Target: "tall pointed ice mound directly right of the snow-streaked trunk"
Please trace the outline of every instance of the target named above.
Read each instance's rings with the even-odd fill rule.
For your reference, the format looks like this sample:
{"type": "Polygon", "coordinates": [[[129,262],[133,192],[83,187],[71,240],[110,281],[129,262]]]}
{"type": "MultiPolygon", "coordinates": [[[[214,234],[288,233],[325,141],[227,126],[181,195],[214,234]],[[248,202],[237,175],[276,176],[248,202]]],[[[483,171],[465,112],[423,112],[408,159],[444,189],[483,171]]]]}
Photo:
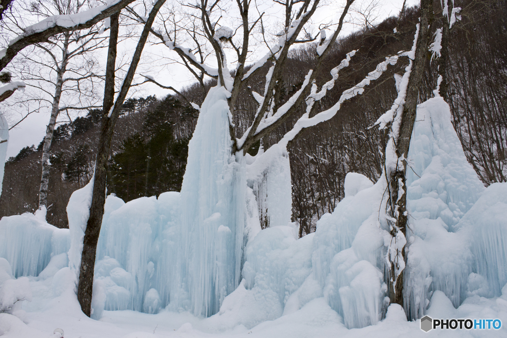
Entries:
{"type": "Polygon", "coordinates": [[[466,297],[471,242],[456,224],[485,188],[466,160],[441,97],[418,106],[408,158],[406,310],[409,318],[420,318],[432,290],[443,291],[455,307],[466,297]]]}

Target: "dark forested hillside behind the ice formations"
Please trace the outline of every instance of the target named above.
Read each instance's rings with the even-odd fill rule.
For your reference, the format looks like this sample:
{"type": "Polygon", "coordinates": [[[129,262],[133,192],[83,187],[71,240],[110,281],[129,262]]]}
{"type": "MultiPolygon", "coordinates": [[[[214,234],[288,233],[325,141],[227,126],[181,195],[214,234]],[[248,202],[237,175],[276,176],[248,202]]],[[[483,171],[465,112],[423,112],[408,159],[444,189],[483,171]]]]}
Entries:
{"type": "MultiPolygon", "coordinates": [[[[507,175],[507,17],[505,1],[461,1],[462,20],[451,31],[448,41],[448,102],[453,124],[465,155],[485,185],[505,182],[507,175]]],[[[315,106],[320,110],[335,104],[346,88],[361,81],[386,56],[410,49],[417,8],[406,9],[369,26],[335,44],[317,77],[319,87],[329,80],[329,72],[346,54],[357,52],[351,65],[340,72],[334,88],[315,106]]],[[[435,25],[441,18],[435,18],[435,25]]],[[[295,48],[289,53],[283,81],[279,82],[274,110],[297,91],[305,74],[317,62],[316,44],[295,48]]],[[[432,97],[437,86],[439,63],[428,52],[420,102],[432,97]]],[[[293,221],[300,236],[315,231],[315,223],[325,212],[334,210],[344,197],[347,172],[378,180],[382,172],[383,149],[387,135],[372,128],[397,95],[396,74],[406,64],[390,67],[381,79],[365,88],[363,95],[347,101],[329,122],[308,128],[289,143],[293,184],[293,221]]],[[[264,70],[250,79],[236,104],[236,137],[251,124],[257,101],[251,91],[262,92],[264,70]]],[[[123,105],[116,126],[113,154],[108,169],[107,192],[125,202],[141,196],[158,196],[179,191],[188,152],[188,142],[199,112],[189,102],[201,105],[213,82],[185,88],[182,96],[133,98],[123,105]]],[[[302,107],[304,108],[304,107],[302,107]]],[[[84,186],[93,174],[98,140],[97,112],[60,124],[55,130],[48,194],[49,223],[67,227],[65,208],[71,193],[84,186]]],[[[299,116],[296,114],[294,116],[299,116]]],[[[276,143],[295,121],[288,119],[269,138],[249,149],[276,143]]],[[[0,217],[34,212],[38,208],[40,184],[39,146],[23,148],[6,164],[0,217]]],[[[418,174],[417,172],[415,173],[418,174]]],[[[262,210],[261,215],[262,215],[262,210]]],[[[269,223],[263,222],[263,227],[269,223]]]]}

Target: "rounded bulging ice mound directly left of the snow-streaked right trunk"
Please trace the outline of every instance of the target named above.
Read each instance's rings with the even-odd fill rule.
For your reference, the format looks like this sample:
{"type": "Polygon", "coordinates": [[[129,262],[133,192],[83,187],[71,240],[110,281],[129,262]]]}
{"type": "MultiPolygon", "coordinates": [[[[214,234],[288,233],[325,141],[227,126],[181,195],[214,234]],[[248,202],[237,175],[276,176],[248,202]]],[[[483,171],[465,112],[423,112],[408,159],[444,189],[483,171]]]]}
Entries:
{"type": "Polygon", "coordinates": [[[381,207],[385,185],[385,177],[374,185],[363,175],[348,173],[345,198],[317,222],[313,276],[349,328],[377,323],[386,308],[385,231],[379,223],[385,210],[381,207]]]}

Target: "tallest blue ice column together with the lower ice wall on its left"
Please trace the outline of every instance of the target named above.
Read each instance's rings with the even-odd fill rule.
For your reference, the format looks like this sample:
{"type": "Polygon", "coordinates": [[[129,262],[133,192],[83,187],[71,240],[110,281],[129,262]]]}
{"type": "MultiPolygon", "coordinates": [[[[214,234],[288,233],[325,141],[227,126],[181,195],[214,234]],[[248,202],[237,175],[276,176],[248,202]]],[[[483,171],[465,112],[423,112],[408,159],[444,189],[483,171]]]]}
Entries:
{"type": "Polygon", "coordinates": [[[181,193],[107,198],[95,268],[106,310],[207,317],[238,286],[247,187],[245,163],[231,154],[227,94],[213,88],[201,107],[181,193]]]}

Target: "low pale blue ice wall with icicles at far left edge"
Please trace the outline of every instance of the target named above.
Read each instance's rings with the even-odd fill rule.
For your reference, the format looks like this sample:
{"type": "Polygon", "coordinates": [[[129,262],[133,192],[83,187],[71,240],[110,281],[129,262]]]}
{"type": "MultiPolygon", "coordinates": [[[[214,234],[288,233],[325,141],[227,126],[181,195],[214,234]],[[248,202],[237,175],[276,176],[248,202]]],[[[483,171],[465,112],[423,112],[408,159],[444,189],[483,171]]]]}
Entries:
{"type": "Polygon", "coordinates": [[[31,213],[0,220],[0,257],[9,261],[16,278],[39,276],[53,256],[69,247],[68,229],[58,229],[31,213]]]}

